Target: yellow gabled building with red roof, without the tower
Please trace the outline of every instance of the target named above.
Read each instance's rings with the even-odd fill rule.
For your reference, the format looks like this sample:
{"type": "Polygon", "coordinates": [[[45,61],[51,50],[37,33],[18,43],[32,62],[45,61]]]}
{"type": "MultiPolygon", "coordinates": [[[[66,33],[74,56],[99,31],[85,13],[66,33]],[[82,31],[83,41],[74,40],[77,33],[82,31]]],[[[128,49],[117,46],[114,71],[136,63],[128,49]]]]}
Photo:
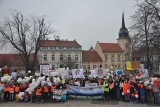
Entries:
{"type": "Polygon", "coordinates": [[[123,68],[123,50],[118,43],[97,42],[95,50],[103,60],[102,67],[109,69],[123,68]]]}

